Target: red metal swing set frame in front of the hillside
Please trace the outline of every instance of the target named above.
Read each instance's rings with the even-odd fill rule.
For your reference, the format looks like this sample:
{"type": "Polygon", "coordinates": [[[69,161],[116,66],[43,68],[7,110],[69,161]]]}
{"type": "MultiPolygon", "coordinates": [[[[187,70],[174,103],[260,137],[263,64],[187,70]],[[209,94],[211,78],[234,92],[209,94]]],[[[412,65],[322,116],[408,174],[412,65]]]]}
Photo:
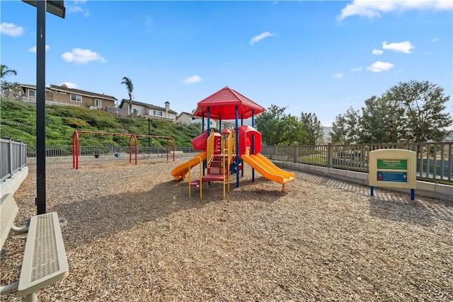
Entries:
{"type": "Polygon", "coordinates": [[[161,137],[156,135],[146,135],[146,134],[127,134],[127,133],[110,133],[110,132],[93,132],[93,131],[74,131],[72,134],[72,168],[79,170],[79,134],[98,134],[98,135],[113,135],[121,137],[129,137],[129,162],[132,163],[132,153],[134,153],[135,164],[137,165],[137,155],[138,155],[138,141],[137,137],[149,137],[155,139],[166,139],[167,140],[167,161],[168,161],[168,141],[173,141],[173,161],[175,161],[175,139],[173,137],[161,137]],[[132,149],[132,139],[134,140],[134,149],[132,149]]]}

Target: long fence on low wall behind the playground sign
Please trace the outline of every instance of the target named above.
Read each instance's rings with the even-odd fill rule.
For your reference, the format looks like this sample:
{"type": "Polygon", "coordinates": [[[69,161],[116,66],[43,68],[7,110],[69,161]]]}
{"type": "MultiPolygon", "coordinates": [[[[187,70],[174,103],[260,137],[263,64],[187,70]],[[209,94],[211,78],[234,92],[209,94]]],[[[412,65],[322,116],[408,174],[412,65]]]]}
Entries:
{"type": "Polygon", "coordinates": [[[453,143],[353,144],[319,146],[263,146],[266,156],[279,156],[287,161],[368,172],[369,151],[406,149],[417,154],[417,179],[433,182],[453,181],[453,143]]]}

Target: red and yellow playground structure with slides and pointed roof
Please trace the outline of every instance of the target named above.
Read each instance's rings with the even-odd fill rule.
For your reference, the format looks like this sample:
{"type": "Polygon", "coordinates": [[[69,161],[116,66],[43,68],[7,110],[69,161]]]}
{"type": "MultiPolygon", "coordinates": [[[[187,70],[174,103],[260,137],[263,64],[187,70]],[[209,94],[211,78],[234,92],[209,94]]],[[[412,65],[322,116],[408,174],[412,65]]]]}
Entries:
{"type": "Polygon", "coordinates": [[[252,181],[255,181],[255,170],[268,180],[273,180],[282,185],[285,192],[285,184],[294,180],[294,173],[281,170],[261,151],[261,134],[254,127],[254,115],[264,111],[264,108],[236,91],[225,87],[200,101],[194,115],[202,117],[202,129],[205,128],[205,114],[207,116],[207,130],[199,137],[193,139],[195,149],[202,152],[185,163],[181,163],[171,171],[174,180],[183,180],[189,174],[190,187],[200,186],[200,198],[202,198],[203,182],[223,182],[224,198],[226,188],[229,191],[230,175],[236,173],[236,187],[239,187],[239,173],[243,173],[243,163],[252,168],[252,181]],[[239,127],[239,116],[241,126],[239,127]],[[252,126],[243,125],[243,119],[252,118],[252,126]],[[224,120],[236,120],[234,131],[220,129],[220,133],[210,131],[210,118],[216,118],[222,124],[224,120]],[[190,169],[195,165],[203,164],[200,168],[200,180],[190,179],[190,169]],[[205,174],[205,167],[207,173],[205,174]]]}

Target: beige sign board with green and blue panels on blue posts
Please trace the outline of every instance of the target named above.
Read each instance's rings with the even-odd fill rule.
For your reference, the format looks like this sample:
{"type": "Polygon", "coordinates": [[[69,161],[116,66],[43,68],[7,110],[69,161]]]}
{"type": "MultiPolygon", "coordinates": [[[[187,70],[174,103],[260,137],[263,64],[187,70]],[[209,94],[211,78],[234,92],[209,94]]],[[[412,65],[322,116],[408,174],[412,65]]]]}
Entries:
{"type": "Polygon", "coordinates": [[[415,200],[417,165],[414,151],[401,149],[371,151],[368,167],[371,196],[374,196],[374,187],[398,187],[411,189],[411,200],[415,200]]]}

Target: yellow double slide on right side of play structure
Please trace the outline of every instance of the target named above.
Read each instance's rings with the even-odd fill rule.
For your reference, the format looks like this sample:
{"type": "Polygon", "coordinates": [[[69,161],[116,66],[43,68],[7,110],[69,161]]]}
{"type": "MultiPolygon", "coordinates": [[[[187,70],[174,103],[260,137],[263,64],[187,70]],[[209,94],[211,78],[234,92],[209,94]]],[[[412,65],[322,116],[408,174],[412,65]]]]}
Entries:
{"type": "Polygon", "coordinates": [[[263,175],[268,180],[273,180],[283,185],[282,192],[285,192],[285,183],[294,180],[296,177],[294,173],[287,172],[278,168],[268,158],[265,158],[262,154],[256,155],[243,155],[241,156],[244,162],[248,163],[253,169],[257,170],[258,173],[263,175]]]}

